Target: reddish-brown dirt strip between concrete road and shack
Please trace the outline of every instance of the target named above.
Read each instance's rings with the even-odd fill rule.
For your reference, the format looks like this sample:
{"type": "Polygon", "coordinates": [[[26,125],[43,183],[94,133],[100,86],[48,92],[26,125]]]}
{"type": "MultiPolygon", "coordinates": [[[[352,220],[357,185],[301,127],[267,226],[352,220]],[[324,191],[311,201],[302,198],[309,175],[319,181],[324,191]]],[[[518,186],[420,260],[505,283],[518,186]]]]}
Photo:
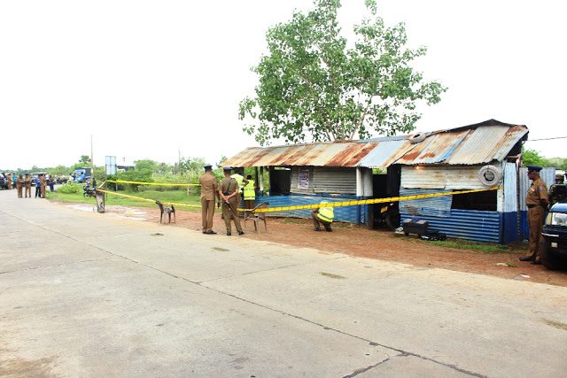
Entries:
{"type": "MultiPolygon", "coordinates": [[[[140,220],[159,223],[159,211],[148,208],[107,206],[107,212],[140,220]]],[[[176,222],[164,227],[183,227],[201,230],[201,213],[176,211],[176,222]]],[[[244,222],[243,222],[244,227],[244,222]]],[[[247,222],[245,235],[237,236],[234,225],[233,235],[254,240],[283,243],[298,247],[318,248],[325,251],[346,253],[363,258],[378,258],[415,266],[438,267],[459,272],[489,274],[501,278],[567,286],[567,272],[549,271],[543,266],[518,261],[525,254],[527,244],[510,247],[509,251],[486,253],[482,251],[454,249],[431,244],[416,235],[395,235],[389,230],[369,230],[352,224],[336,222],[332,232],[315,232],[312,220],[268,218],[268,232],[261,224],[260,232],[253,230],[253,223],[247,222]]],[[[218,235],[228,237],[221,213],[214,214],[214,230],[218,235]]]]}

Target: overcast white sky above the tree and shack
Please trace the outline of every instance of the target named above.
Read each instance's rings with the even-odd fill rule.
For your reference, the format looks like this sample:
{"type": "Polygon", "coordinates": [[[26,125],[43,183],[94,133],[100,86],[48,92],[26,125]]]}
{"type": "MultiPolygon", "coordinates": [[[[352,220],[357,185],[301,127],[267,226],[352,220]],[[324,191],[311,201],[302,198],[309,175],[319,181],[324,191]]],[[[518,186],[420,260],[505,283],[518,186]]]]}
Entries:
{"type": "MultiPolygon", "coordinates": [[[[365,13],[343,1],[345,35],[365,13]]],[[[526,125],[525,146],[567,157],[563,127],[567,23],[561,2],[378,1],[387,25],[406,24],[414,65],[448,90],[420,106],[416,131],[483,120],[526,125]]],[[[0,2],[0,169],[71,166],[82,155],[216,164],[257,146],[239,101],[266,32],[311,0],[0,2]]],[[[379,136],[379,135],[373,135],[379,136]]]]}

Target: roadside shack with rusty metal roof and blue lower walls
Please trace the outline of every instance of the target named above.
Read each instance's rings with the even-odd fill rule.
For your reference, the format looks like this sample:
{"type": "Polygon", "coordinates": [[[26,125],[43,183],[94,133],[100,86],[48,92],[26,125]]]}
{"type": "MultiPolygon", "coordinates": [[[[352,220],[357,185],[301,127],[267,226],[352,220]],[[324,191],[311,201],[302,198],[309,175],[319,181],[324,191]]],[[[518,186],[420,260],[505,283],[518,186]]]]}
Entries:
{"type": "MultiPolygon", "coordinates": [[[[257,201],[270,207],[352,199],[407,197],[468,189],[477,193],[404,200],[400,219],[427,220],[451,237],[509,243],[527,237],[524,194],[529,181],[521,167],[528,128],[498,120],[414,135],[363,141],[252,147],[229,158],[233,167],[255,167],[257,182],[268,175],[257,201]]],[[[545,168],[544,181],[555,174],[545,168]],[[550,174],[551,173],[551,174],[550,174]]],[[[335,208],[335,220],[375,226],[383,204],[335,208]]],[[[309,218],[311,210],[276,216],[309,218]]]]}

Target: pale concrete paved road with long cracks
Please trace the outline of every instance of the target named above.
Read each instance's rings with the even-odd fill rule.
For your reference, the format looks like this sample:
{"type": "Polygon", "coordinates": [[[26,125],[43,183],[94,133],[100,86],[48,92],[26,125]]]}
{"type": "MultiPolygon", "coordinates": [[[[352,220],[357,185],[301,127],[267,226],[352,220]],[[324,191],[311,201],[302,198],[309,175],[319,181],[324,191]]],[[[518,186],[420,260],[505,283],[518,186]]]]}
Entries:
{"type": "Polygon", "coordinates": [[[0,191],[0,240],[1,376],[567,374],[562,287],[202,235],[14,190],[0,191]]]}

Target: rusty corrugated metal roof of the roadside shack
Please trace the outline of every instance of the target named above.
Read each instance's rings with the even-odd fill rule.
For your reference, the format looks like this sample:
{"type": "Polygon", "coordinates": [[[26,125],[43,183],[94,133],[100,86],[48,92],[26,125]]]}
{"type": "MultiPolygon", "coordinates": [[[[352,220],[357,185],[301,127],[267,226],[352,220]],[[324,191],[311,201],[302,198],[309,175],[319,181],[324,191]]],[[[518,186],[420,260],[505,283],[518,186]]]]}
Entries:
{"type": "Polygon", "coordinates": [[[420,143],[408,136],[359,142],[292,144],[252,147],[229,158],[227,166],[345,166],[380,167],[392,164],[478,165],[501,161],[528,133],[525,126],[497,120],[439,130],[420,143]]]}

